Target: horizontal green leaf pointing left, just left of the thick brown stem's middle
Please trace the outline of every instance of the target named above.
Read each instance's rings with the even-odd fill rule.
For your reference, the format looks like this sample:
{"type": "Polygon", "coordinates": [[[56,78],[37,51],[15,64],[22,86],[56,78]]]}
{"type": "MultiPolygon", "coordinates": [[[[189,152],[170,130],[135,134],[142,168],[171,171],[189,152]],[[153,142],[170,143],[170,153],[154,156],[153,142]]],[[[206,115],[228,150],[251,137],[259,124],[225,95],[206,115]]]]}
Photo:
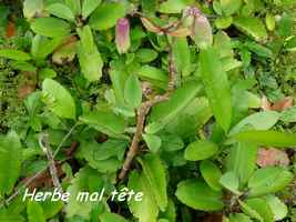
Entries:
{"type": "Polygon", "coordinates": [[[121,134],[125,128],[124,119],[111,111],[93,111],[83,114],[80,120],[108,134],[121,134]]]}

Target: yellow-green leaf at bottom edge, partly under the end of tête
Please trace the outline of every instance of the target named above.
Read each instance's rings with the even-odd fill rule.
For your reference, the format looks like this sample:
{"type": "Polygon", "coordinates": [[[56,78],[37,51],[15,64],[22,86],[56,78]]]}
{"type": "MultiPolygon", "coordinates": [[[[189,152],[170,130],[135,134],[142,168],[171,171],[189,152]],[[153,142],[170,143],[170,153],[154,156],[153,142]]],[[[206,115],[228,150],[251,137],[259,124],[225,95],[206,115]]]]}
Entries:
{"type": "Polygon", "coordinates": [[[137,218],[140,222],[156,222],[159,206],[147,179],[143,174],[140,175],[136,171],[133,171],[130,173],[127,186],[134,190],[134,192],[143,192],[142,201],[132,199],[127,202],[132,214],[137,218]]]}

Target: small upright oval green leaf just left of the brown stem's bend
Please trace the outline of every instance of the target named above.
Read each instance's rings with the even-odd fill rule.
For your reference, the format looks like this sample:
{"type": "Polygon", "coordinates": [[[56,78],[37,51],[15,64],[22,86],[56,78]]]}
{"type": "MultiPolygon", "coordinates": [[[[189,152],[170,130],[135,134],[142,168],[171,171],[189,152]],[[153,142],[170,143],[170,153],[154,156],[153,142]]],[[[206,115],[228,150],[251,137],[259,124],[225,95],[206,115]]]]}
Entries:
{"type": "Polygon", "coordinates": [[[142,88],[135,74],[130,74],[124,85],[124,99],[132,108],[139,108],[142,103],[142,88]]]}

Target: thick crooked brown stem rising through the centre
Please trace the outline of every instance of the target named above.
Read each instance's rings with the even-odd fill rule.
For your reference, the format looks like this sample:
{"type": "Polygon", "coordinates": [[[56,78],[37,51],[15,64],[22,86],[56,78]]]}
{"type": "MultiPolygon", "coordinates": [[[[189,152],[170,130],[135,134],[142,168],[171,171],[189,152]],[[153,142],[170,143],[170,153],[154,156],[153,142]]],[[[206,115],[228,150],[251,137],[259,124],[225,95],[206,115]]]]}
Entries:
{"type": "Polygon", "coordinates": [[[139,152],[139,142],[141,140],[144,124],[145,124],[145,119],[146,119],[146,115],[150,109],[160,102],[169,100],[172,91],[174,90],[175,79],[176,79],[176,69],[175,69],[172,46],[170,43],[169,43],[169,75],[170,75],[170,79],[169,79],[166,92],[161,95],[155,95],[153,99],[149,101],[142,102],[142,105],[137,110],[136,130],[135,130],[132,143],[131,143],[131,147],[126,153],[122,170],[119,174],[120,180],[123,180],[125,178],[126,173],[129,172],[131,168],[134,157],[139,152]]]}

